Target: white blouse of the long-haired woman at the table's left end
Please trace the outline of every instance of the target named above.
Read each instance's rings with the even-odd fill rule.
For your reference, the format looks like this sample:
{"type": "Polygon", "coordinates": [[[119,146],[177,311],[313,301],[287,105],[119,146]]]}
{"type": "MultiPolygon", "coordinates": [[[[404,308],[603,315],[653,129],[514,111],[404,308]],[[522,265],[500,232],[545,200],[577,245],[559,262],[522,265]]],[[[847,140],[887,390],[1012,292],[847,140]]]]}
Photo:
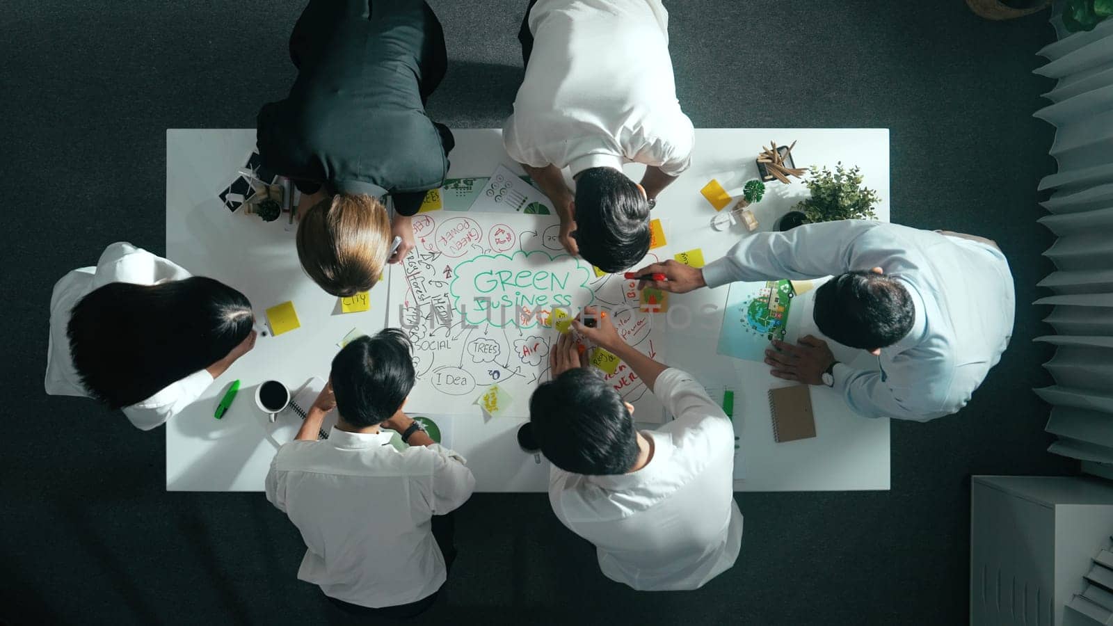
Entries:
{"type": "MultiPolygon", "coordinates": [[[[188,278],[177,264],[125,242],[115,243],[100,255],[96,267],[79,267],[55,283],[50,296],[50,339],[47,348],[45,387],[50,395],[89,395],[73,368],[67,329],[73,306],[90,292],[110,283],[154,285],[188,278]]],[[[140,430],[150,430],[181,412],[213,382],[205,370],[160,389],[155,395],[122,409],[140,430]]]]}

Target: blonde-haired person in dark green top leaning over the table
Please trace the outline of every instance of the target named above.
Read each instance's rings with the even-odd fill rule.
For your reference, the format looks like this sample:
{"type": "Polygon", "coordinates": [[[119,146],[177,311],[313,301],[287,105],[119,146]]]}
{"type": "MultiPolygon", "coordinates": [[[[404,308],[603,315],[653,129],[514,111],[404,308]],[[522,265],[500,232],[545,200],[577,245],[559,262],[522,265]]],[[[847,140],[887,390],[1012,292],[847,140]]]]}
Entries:
{"type": "Polygon", "coordinates": [[[452,133],[425,115],[447,68],[444,31],[423,0],[309,0],[289,55],[297,79],[259,110],[259,156],[302,193],[305,272],[351,295],[413,250],[410,218],[449,173],[452,133]]]}

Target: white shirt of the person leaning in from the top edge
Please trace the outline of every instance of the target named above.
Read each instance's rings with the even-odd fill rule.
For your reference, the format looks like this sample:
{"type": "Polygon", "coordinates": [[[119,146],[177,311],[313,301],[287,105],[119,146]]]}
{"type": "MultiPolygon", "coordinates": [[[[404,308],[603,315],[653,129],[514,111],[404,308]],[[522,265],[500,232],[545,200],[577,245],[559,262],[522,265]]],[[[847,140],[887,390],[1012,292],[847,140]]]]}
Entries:
{"type": "Polygon", "coordinates": [[[539,0],[533,52],[502,130],[510,156],[573,176],[629,162],[679,176],[696,134],[677,101],[668,22],[660,0],[539,0]]]}

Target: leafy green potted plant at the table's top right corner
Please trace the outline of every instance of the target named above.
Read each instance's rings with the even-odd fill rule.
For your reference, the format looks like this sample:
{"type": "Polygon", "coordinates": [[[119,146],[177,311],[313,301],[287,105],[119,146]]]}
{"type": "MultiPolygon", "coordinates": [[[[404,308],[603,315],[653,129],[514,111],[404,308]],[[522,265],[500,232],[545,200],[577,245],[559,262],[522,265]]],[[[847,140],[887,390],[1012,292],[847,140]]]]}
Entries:
{"type": "Polygon", "coordinates": [[[861,169],[850,169],[839,163],[835,172],[827,167],[812,167],[808,175],[811,196],[796,205],[777,222],[778,231],[788,231],[800,224],[833,222],[835,219],[876,219],[874,206],[881,202],[877,192],[861,186],[861,169]]]}

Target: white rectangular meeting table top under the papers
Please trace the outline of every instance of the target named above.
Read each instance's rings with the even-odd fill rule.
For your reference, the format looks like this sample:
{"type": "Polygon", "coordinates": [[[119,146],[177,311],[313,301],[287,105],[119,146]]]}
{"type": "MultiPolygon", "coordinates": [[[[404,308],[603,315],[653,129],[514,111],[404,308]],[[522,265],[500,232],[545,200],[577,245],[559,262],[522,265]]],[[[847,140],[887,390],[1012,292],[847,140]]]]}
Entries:
{"type": "MultiPolygon", "coordinates": [[[[485,177],[499,164],[521,172],[503,150],[500,130],[454,129],[453,134],[456,146],[450,155],[450,177],[485,177]]],[[[741,225],[713,231],[710,219],[716,212],[700,188],[716,178],[740,197],[743,183],[757,177],[758,151],[776,140],[778,145],[797,141],[792,150],[797,166],[834,167],[841,162],[861,167],[865,185],[881,197],[877,218],[888,221],[888,139],[887,129],[697,129],[691,168],[660,195],[653,214],[664,223],[670,251],[699,247],[708,263],[720,257],[749,233],[741,225]]],[[[277,222],[263,223],[243,215],[243,209],[232,213],[221,205],[218,194],[254,149],[254,129],[168,129],[166,143],[167,256],[195,275],[211,276],[244,292],[260,323],[267,307],[293,301],[302,324],[278,336],[259,336],[252,352],[166,424],[166,488],[262,491],[275,450],[293,438],[297,423],[279,420],[272,424],[255,404],[255,389],[274,379],[295,391],[309,376],[326,379],[337,342],[348,331],[357,327],[371,334],[384,326],[388,290],[385,284],[372,290],[370,311],[342,314],[337,300],[302,271],[294,228],[285,214],[277,222]],[[214,419],[217,402],[237,379],[240,391],[236,401],[223,419],[214,419]]],[[[626,167],[636,180],[642,169],[638,165],[626,167]]],[[[796,179],[789,185],[767,183],[767,189],[765,198],[752,207],[759,231],[774,229],[777,217],[808,194],[796,179]]],[[[706,387],[735,391],[733,419],[745,464],[745,479],[735,480],[735,490],[888,489],[888,420],[854,414],[825,387],[811,388],[817,436],[787,443],[774,440],[768,390],[788,383],[769,374],[765,363],[717,354],[727,291],[723,286],[673,296],[672,307],[684,304],[693,319],[687,327],[680,327],[684,326],[682,319],[670,320],[662,352],[669,365],[691,372],[706,387]]],[[[814,294],[805,293],[795,301],[787,340],[807,333],[819,335],[810,314],[814,294]]],[[[876,368],[876,360],[861,351],[840,345],[833,349],[840,361],[876,368]]],[[[452,447],[467,459],[477,491],[546,490],[548,462],[542,459],[538,463],[532,454],[522,452],[515,438],[526,415],[484,418],[479,407],[469,404],[457,414],[441,418],[452,421],[452,447]]]]}

